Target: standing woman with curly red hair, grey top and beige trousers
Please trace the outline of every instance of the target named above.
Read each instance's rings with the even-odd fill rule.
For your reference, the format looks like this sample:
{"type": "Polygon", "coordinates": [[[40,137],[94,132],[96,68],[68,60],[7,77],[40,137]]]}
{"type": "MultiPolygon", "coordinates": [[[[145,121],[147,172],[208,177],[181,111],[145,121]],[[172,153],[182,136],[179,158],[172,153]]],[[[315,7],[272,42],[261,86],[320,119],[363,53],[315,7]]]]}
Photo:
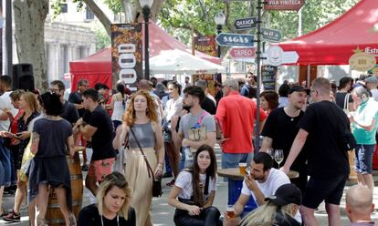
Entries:
{"type": "Polygon", "coordinates": [[[163,172],[164,147],[155,102],[147,91],[140,90],[131,97],[122,127],[118,129],[113,141],[114,148],[120,149],[125,139],[129,140],[130,148],[126,152],[125,176],[132,191],[131,206],[136,211],[136,223],[138,226],[152,225],[152,173],[147,161],[154,178],[160,178],[163,172]],[[146,159],[143,158],[138,142],[146,159]]]}

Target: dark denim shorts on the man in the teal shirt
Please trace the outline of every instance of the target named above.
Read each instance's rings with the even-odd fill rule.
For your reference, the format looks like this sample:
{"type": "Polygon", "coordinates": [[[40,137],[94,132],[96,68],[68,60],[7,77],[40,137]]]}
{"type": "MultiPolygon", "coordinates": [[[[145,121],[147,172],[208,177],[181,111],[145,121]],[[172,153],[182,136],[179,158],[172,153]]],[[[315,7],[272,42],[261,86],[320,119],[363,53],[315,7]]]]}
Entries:
{"type": "Polygon", "coordinates": [[[373,153],[375,144],[358,144],[355,149],[356,172],[361,174],[373,173],[373,153]]]}

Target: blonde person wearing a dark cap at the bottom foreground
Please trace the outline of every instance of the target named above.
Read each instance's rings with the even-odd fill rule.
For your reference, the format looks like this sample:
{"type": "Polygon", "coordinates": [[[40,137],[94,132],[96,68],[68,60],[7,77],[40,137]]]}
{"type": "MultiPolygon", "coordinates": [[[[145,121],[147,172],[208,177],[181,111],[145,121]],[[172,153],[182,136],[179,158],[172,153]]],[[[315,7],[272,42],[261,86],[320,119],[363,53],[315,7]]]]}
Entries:
{"type": "Polygon", "coordinates": [[[264,205],[247,214],[241,221],[241,226],[300,225],[294,219],[301,201],[301,193],[297,186],[294,184],[284,184],[276,190],[273,197],[266,198],[265,200],[267,202],[264,205]]]}

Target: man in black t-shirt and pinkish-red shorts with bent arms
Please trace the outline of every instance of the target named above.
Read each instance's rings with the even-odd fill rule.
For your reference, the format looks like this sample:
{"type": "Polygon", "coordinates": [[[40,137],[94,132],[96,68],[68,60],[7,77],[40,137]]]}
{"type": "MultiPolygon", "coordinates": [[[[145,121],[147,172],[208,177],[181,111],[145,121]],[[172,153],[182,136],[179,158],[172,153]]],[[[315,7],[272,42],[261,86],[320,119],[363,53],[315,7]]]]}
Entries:
{"type": "Polygon", "coordinates": [[[83,106],[90,111],[89,121],[84,126],[83,118],[79,118],[74,131],[80,132],[85,139],[91,139],[92,159],[88,175],[85,180],[86,187],[96,196],[97,182],[111,173],[115,159],[115,150],[112,146],[113,123],[108,112],[99,105],[99,93],[89,88],[83,92],[83,106]]]}

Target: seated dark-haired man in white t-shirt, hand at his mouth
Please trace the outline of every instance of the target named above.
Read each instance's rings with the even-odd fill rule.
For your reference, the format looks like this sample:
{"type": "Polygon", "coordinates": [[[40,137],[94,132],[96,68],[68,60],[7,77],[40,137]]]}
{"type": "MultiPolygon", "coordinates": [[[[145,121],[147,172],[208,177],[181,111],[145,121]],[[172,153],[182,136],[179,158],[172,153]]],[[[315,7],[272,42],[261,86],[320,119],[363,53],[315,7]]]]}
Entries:
{"type": "MultiPolygon", "coordinates": [[[[250,164],[250,173],[245,177],[239,199],[234,205],[236,217],[230,219],[225,212],[224,225],[239,224],[240,216],[250,196],[253,197],[257,205],[262,205],[265,203],[265,198],[274,196],[281,185],[290,183],[288,176],[283,171],[274,169],[272,166],[273,160],[268,153],[258,152],[255,154],[250,164]]],[[[301,221],[299,213],[295,219],[301,221]]]]}

